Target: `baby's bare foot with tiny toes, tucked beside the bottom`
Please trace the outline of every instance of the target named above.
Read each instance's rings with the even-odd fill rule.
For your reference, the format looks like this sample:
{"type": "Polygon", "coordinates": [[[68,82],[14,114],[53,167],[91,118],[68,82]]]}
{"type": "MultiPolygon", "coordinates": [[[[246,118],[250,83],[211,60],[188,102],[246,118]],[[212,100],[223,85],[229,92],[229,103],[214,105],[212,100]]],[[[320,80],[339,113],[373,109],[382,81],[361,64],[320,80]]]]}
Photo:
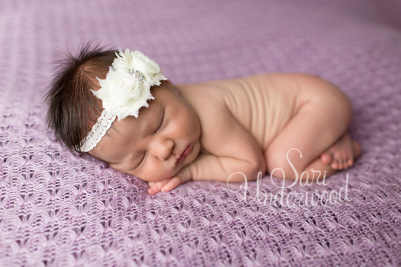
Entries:
{"type": "Polygon", "coordinates": [[[359,157],[361,151],[359,144],[351,140],[345,133],[334,145],[320,155],[323,164],[330,164],[335,170],[343,170],[354,164],[354,159],[359,157]]]}

